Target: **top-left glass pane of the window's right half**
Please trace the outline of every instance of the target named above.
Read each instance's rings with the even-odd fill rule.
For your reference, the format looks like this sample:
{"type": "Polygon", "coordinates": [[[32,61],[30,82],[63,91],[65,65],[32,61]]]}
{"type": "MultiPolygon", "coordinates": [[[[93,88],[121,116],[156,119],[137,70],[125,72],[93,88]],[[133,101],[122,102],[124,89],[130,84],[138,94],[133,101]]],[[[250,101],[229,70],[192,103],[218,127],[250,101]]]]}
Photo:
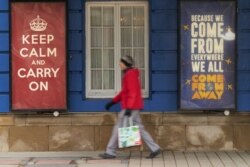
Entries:
{"type": "Polygon", "coordinates": [[[131,26],[132,25],[132,8],[131,7],[121,7],[121,26],[131,26]]]}

